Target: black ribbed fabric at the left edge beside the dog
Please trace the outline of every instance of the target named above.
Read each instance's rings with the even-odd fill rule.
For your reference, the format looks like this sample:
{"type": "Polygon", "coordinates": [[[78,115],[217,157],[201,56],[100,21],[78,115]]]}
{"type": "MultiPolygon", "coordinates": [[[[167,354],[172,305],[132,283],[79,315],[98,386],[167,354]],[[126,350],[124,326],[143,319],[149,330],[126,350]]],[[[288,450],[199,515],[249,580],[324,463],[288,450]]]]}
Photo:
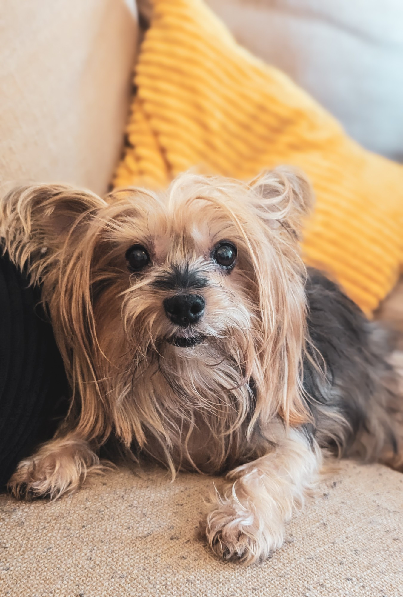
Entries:
{"type": "Polygon", "coordinates": [[[39,299],[40,289],[1,257],[0,490],[68,409],[63,362],[39,299]]]}

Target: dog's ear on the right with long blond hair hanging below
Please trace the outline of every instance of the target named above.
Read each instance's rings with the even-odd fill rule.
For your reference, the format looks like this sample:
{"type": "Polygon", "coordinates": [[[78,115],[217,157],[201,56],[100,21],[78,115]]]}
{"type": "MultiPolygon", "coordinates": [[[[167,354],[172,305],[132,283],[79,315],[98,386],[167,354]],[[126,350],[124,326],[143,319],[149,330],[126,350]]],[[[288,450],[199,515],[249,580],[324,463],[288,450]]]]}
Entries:
{"type": "Polygon", "coordinates": [[[302,398],[306,301],[297,242],[312,193],[302,174],[290,168],[263,172],[249,188],[250,206],[262,223],[255,233],[253,219],[245,233],[253,255],[260,319],[256,338],[262,374],[253,374],[258,380],[254,420],[259,413],[271,412],[299,426],[310,415],[302,398]]]}

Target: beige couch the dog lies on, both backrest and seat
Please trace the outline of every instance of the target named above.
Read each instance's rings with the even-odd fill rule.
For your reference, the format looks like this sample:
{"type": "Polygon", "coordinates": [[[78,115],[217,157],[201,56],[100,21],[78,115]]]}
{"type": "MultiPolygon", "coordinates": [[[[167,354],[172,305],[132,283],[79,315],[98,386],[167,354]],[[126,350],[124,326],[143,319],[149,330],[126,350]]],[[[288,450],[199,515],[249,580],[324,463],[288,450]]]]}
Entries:
{"type": "MultiPolygon", "coordinates": [[[[123,0],[8,2],[0,21],[1,183],[106,191],[122,147],[136,12],[123,0]]],[[[213,479],[124,469],[75,496],[0,496],[0,595],[403,595],[403,475],[343,462],[262,565],[221,562],[199,540],[213,479]]]]}

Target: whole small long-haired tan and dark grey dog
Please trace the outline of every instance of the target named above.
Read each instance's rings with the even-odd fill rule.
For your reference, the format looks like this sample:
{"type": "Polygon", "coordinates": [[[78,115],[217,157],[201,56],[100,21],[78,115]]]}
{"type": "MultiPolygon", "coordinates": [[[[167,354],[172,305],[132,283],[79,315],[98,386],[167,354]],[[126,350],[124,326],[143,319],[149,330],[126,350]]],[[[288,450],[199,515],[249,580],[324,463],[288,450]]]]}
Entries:
{"type": "Polygon", "coordinates": [[[386,334],[303,266],[311,200],[285,168],[249,184],[187,173],[106,201],[60,185],[8,193],[3,247],[42,285],[72,389],[14,496],[76,490],[115,436],[173,475],[226,473],[205,533],[249,564],[281,546],[323,450],[401,467],[386,334]]]}

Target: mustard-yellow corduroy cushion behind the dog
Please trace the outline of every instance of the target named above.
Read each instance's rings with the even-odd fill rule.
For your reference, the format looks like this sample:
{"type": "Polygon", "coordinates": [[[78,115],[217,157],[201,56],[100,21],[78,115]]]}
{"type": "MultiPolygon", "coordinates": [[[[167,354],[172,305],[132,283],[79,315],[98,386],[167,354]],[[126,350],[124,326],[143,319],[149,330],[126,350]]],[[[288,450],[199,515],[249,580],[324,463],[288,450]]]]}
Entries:
{"type": "Polygon", "coordinates": [[[236,44],[201,0],[154,0],[115,187],[162,187],[194,165],[238,179],[293,164],[316,193],[307,264],[371,312],[403,261],[403,168],[352,141],[279,70],[236,44]]]}

